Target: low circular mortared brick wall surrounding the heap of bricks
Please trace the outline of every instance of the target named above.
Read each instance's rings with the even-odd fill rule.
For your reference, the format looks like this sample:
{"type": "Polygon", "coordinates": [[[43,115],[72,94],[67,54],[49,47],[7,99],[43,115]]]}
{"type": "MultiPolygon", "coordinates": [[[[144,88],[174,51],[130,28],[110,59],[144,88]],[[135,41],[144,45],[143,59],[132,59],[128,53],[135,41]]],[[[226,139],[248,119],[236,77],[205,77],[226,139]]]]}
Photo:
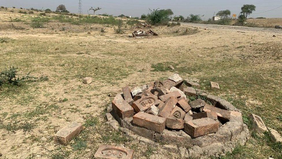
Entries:
{"type": "MultiPolygon", "coordinates": [[[[121,130],[126,135],[139,140],[139,142],[151,144],[155,147],[162,148],[173,153],[179,153],[182,158],[207,158],[208,156],[224,155],[226,152],[231,152],[236,145],[244,145],[248,139],[249,132],[246,125],[243,123],[240,111],[226,100],[210,95],[203,90],[188,87],[184,83],[182,80],[176,85],[176,87],[179,88],[186,96],[193,98],[194,101],[197,99],[205,101],[207,105],[211,106],[212,112],[217,111],[218,119],[214,119],[214,121],[219,123],[219,127],[215,133],[193,137],[193,135],[189,135],[187,133],[187,130],[170,129],[168,127],[166,127],[166,129],[162,132],[156,132],[134,124],[131,116],[120,117],[120,114],[112,109],[112,104],[107,108],[107,123],[114,129],[121,130]],[[222,109],[224,110],[223,112],[228,112],[229,115],[227,115],[227,117],[225,117],[226,115],[224,113],[220,112],[222,109]]],[[[148,85],[136,87],[135,89],[140,88],[143,94],[146,90],[151,89],[154,86],[155,85],[153,83],[150,83],[148,85]]],[[[135,89],[133,89],[133,91],[131,90],[131,94],[133,96],[135,95],[135,89]]],[[[118,100],[120,96],[124,97],[123,92],[119,93],[113,102],[118,100]]],[[[187,100],[189,99],[187,98],[187,100]]],[[[191,101],[188,101],[188,103],[191,104],[191,101]]],[[[197,111],[193,108],[191,110],[197,111]]],[[[209,112],[209,110],[204,107],[204,110],[199,109],[198,112],[193,113],[198,114],[200,112],[209,112]]],[[[136,110],[134,114],[136,114],[136,110]]],[[[189,121],[185,120],[184,122],[186,124],[189,121]]]]}

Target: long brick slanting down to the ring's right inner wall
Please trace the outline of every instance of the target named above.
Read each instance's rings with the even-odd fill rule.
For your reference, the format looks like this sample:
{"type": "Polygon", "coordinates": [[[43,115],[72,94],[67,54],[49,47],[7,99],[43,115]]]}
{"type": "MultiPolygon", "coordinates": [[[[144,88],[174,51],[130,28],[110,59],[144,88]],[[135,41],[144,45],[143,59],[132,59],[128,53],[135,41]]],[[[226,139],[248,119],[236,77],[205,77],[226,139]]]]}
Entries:
{"type": "Polygon", "coordinates": [[[231,118],[231,112],[230,111],[220,109],[220,108],[214,107],[214,106],[209,105],[209,104],[205,104],[203,111],[204,112],[216,112],[217,117],[220,120],[229,121],[230,118],[231,118]]]}

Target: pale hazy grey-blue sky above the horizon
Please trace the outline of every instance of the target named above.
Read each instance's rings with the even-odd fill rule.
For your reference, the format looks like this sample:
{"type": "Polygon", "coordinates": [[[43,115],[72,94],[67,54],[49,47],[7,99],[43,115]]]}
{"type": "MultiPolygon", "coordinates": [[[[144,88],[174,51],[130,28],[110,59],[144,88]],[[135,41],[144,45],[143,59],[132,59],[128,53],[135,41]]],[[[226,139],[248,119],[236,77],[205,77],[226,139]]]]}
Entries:
{"type": "MultiPolygon", "coordinates": [[[[64,4],[70,12],[78,12],[78,0],[0,0],[0,6],[16,8],[37,8],[55,10],[59,4],[64,4]]],[[[282,0],[82,0],[82,10],[87,14],[88,9],[100,7],[101,10],[96,14],[112,14],[118,16],[125,14],[133,17],[140,17],[147,14],[150,9],[167,9],[170,8],[174,15],[183,15],[187,17],[189,14],[204,15],[206,20],[214,15],[214,12],[220,10],[231,10],[231,14],[239,14],[243,4],[254,4],[257,6],[256,11],[250,17],[282,17],[282,7],[265,12],[279,6],[282,6],[282,0]],[[264,12],[264,13],[260,13],[264,12]]],[[[89,13],[92,13],[89,11],[89,13]]]]}

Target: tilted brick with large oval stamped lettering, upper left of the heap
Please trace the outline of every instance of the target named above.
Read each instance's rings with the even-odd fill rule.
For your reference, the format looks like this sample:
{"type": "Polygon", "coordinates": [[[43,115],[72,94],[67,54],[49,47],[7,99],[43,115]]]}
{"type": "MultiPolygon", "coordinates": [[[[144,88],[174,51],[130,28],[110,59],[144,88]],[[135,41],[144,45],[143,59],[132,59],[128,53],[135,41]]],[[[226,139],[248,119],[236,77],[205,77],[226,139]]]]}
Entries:
{"type": "Polygon", "coordinates": [[[159,100],[153,94],[149,94],[148,96],[142,96],[142,98],[133,102],[132,107],[134,108],[135,112],[144,112],[149,109],[152,105],[158,105],[159,100]]]}

